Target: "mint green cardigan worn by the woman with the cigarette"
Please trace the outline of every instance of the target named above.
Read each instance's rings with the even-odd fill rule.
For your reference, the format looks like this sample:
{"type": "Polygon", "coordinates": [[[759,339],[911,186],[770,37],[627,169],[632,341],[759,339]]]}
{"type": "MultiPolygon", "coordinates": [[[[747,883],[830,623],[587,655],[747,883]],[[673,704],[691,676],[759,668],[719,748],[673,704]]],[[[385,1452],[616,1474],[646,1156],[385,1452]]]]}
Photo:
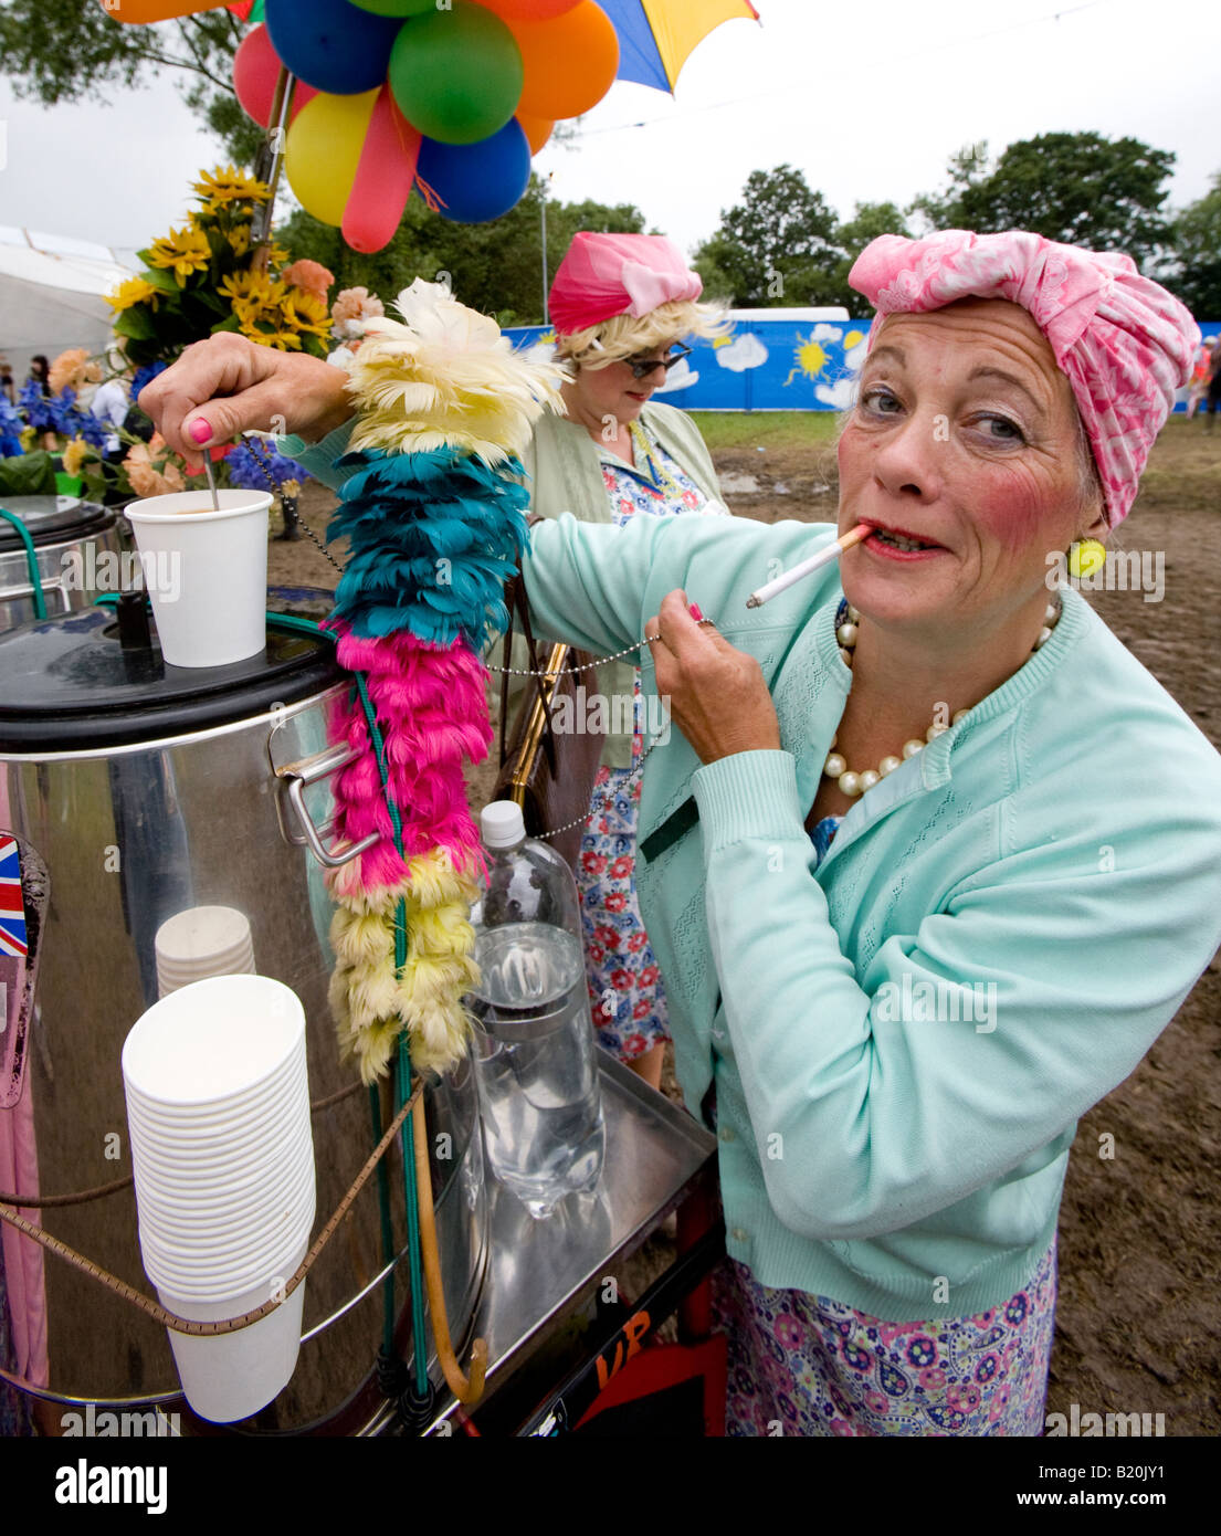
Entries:
{"type": "Polygon", "coordinates": [[[653,750],[636,862],[693,1115],[716,1084],[730,1253],[891,1321],[961,1316],[1031,1278],[1078,1117],[1221,942],[1221,757],[1067,588],[1047,644],[857,800],[816,871],[851,687],[837,571],[745,601],[829,531],[564,516],[525,582],[541,631],[602,654],[683,587],[773,693],[779,751],[653,750]]]}

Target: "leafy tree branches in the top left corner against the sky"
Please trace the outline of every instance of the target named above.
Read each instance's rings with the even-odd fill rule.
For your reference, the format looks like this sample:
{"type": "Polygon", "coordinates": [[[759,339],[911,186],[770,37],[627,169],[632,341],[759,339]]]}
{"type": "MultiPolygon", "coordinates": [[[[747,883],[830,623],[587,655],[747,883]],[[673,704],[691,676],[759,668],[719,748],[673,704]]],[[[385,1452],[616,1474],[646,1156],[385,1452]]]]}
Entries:
{"type": "Polygon", "coordinates": [[[178,71],[186,104],[221,138],[238,164],[250,164],[263,140],[233,94],[233,54],[243,23],[229,11],[204,11],[155,26],[124,26],[97,0],[5,0],[0,6],[0,72],[20,97],[111,101],[163,71],[178,71]]]}

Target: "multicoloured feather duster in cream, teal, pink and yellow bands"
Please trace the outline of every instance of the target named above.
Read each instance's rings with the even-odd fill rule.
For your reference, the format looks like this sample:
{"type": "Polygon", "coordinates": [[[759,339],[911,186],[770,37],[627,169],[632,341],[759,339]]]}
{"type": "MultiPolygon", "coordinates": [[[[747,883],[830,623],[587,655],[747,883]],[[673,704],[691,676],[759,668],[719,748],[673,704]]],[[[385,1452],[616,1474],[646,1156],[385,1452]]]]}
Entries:
{"type": "Polygon", "coordinates": [[[462,768],[491,745],[479,653],[528,541],[521,453],[539,413],[562,409],[558,370],[445,289],[412,284],[399,313],[370,321],[349,364],[362,415],[329,528],[352,554],[327,627],[358,679],[330,720],[353,750],[332,780],[336,845],[378,837],[327,876],[330,1005],[366,1083],[404,1031],[418,1071],[465,1051],[485,865],[462,768]]]}

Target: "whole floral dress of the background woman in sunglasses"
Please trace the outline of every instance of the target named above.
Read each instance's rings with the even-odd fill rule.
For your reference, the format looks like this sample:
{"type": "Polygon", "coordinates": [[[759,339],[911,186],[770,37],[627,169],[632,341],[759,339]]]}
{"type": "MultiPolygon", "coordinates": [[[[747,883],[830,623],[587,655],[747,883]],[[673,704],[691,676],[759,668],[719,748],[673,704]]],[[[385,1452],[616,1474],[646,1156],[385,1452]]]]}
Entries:
{"type": "MultiPolygon", "coordinates": [[[[720,502],[708,501],[699,485],[639,422],[633,427],[633,441],[636,468],[611,453],[602,453],[602,481],[616,527],[622,527],[631,518],[728,515],[720,502]]],[[[577,860],[593,1021],[597,1043],[620,1061],[631,1061],[670,1038],[657,958],[636,902],[639,763],[648,746],[644,739],[639,673],[634,697],[633,766],[597,770],[593,806],[577,860]]]]}

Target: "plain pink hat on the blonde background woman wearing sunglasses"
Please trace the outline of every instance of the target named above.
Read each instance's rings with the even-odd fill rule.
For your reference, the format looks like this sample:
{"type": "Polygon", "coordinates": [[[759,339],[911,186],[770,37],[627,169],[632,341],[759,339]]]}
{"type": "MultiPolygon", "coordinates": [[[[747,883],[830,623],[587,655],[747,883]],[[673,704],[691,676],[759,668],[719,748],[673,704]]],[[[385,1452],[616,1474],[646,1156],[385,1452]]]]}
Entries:
{"type": "Polygon", "coordinates": [[[548,307],[556,332],[601,326],[613,315],[648,315],[671,300],[703,292],[679,247],[665,235],[573,237],[556,270],[548,307]]]}

